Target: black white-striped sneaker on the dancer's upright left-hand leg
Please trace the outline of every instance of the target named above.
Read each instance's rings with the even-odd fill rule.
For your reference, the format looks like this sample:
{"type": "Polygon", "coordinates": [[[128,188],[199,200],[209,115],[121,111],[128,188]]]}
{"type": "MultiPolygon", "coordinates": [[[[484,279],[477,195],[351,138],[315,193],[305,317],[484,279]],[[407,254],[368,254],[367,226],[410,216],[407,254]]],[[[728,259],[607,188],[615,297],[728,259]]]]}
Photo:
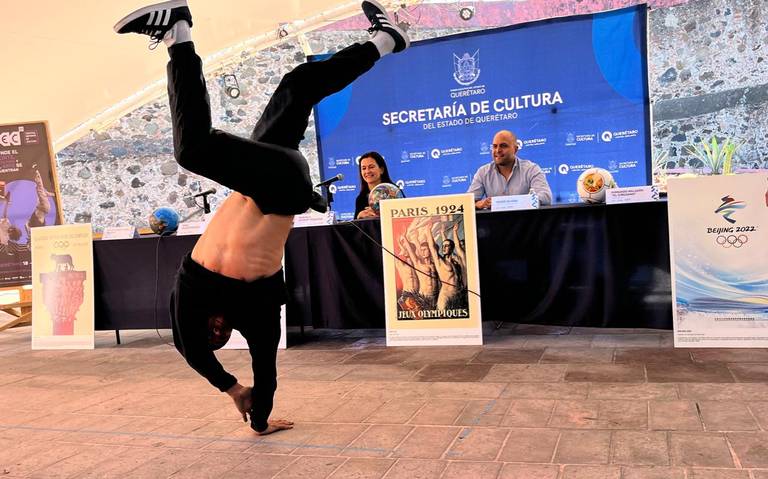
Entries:
{"type": "Polygon", "coordinates": [[[179,20],[186,20],[192,26],[187,0],[170,0],[140,8],[117,22],[114,28],[117,33],[149,35],[157,45],[179,20]]]}

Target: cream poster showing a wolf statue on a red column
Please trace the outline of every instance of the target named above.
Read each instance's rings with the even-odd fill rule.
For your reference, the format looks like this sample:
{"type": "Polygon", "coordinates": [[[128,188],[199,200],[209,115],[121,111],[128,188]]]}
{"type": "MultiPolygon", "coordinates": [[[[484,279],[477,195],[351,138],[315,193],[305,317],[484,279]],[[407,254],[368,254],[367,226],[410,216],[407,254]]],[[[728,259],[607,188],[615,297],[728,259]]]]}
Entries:
{"type": "Polygon", "coordinates": [[[89,223],[32,229],[32,349],[93,349],[89,223]]]}

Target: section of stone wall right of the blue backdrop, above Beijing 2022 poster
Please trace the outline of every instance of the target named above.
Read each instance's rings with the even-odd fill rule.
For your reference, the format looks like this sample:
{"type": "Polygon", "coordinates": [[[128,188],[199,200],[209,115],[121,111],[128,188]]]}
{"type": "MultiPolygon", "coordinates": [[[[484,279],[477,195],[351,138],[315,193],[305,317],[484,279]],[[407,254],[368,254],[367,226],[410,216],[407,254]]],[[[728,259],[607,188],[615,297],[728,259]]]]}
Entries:
{"type": "Polygon", "coordinates": [[[649,76],[657,151],[697,166],[686,145],[746,144],[740,168],[768,168],[768,3],[698,0],[651,12],[649,76]]]}

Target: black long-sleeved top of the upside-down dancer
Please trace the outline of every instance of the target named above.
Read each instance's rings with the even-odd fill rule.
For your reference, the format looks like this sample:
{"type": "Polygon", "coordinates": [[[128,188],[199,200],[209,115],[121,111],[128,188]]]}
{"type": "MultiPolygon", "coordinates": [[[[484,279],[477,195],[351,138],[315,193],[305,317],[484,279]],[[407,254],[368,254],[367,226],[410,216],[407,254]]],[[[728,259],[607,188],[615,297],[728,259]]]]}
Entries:
{"type": "Polygon", "coordinates": [[[219,391],[237,379],[224,370],[208,346],[208,318],[221,315],[248,342],[253,368],[251,424],[267,427],[277,389],[277,345],[280,306],[286,293],[282,270],[269,278],[246,282],[205,269],[187,255],[171,293],[173,343],[187,363],[219,391]]]}

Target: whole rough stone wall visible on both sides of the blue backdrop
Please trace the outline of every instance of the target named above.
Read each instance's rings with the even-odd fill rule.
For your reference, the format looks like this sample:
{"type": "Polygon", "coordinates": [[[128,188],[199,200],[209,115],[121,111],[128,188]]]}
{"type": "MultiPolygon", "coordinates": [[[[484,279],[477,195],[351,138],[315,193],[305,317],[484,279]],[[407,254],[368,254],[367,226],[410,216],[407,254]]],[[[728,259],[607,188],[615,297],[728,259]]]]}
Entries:
{"type": "MultiPolygon", "coordinates": [[[[494,8],[506,7],[496,3],[494,8]]],[[[411,33],[414,39],[425,39],[478,28],[484,26],[455,21],[442,28],[415,25],[411,33]]],[[[320,53],[337,51],[364,36],[357,30],[323,30],[307,38],[312,51],[320,53]]],[[[715,134],[746,141],[737,167],[768,168],[767,45],[764,0],[694,0],[651,10],[653,145],[657,152],[669,152],[670,166],[697,166],[685,146],[715,134]]],[[[288,40],[209,75],[214,126],[248,136],[282,75],[305,61],[299,43],[288,40]],[[224,73],[237,76],[239,98],[224,92],[224,73]]],[[[317,179],[312,121],[300,149],[317,179]]],[[[97,231],[107,225],[144,227],[156,207],[171,206],[184,217],[198,211],[190,197],[201,189],[217,187],[214,207],[229,193],[179,168],[172,151],[165,99],[144,105],[109,129],[60,151],[65,221],[91,222],[97,231]]]]}

